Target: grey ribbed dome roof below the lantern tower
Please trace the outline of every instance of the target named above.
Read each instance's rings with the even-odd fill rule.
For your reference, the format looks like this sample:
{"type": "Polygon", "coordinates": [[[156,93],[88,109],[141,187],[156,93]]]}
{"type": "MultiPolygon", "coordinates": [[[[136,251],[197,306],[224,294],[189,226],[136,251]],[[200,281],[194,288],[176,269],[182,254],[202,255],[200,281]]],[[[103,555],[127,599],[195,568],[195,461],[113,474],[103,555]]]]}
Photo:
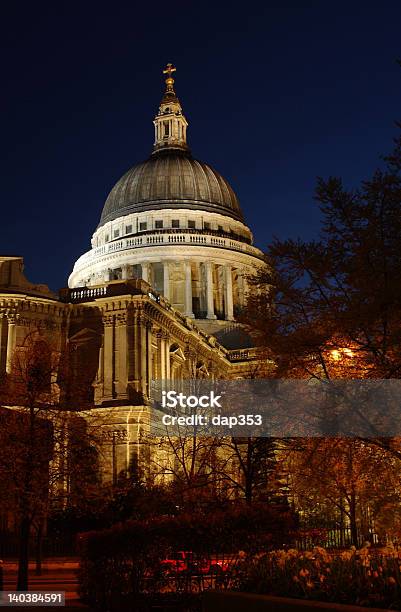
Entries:
{"type": "Polygon", "coordinates": [[[217,212],[243,221],[238,198],[228,182],[187,151],[153,154],[115,184],[98,227],[134,212],[187,208],[217,212]]]}

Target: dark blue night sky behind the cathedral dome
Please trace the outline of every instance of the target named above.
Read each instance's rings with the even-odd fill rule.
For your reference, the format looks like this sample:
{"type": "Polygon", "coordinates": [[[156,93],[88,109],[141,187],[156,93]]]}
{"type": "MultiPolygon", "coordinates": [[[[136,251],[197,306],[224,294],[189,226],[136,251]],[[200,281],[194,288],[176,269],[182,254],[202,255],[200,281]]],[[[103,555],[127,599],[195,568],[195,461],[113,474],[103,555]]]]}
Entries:
{"type": "Polygon", "coordinates": [[[195,157],[262,248],[313,237],[316,176],[367,178],[401,118],[401,3],[9,2],[1,9],[1,254],[66,285],[113,184],[153,142],[166,62],[195,157]]]}

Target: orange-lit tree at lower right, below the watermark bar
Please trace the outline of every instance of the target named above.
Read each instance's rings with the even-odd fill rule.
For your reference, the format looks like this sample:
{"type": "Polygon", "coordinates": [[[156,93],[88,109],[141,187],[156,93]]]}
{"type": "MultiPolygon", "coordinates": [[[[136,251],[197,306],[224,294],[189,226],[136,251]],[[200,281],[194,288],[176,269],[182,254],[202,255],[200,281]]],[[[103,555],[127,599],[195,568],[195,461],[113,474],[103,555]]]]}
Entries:
{"type": "Polygon", "coordinates": [[[389,512],[400,508],[400,461],[364,441],[304,440],[302,449],[287,449],[286,465],[289,493],[305,522],[349,525],[355,546],[361,533],[369,539],[373,528],[388,531],[389,512]]]}

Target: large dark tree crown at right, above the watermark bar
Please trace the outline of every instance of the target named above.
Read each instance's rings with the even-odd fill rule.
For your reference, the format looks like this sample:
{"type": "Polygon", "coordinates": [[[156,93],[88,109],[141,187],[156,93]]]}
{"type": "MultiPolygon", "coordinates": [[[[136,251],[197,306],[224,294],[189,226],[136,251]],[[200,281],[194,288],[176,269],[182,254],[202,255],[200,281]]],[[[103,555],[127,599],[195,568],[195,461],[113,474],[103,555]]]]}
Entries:
{"type": "Polygon", "coordinates": [[[275,240],[244,319],[277,376],[401,376],[401,137],[360,189],[318,181],[319,240],[275,240]]]}

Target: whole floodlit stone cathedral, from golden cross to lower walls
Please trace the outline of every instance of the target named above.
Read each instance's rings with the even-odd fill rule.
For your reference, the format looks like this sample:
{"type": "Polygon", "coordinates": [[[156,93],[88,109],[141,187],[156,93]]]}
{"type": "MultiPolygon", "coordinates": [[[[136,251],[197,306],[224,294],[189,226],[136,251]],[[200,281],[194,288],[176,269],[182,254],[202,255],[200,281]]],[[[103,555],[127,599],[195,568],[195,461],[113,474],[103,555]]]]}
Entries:
{"type": "Polygon", "coordinates": [[[55,362],[68,359],[70,389],[60,373],[53,382],[71,413],[100,423],[106,481],[133,460],[150,464],[153,380],[241,378],[264,363],[241,348],[250,341],[235,322],[263,254],[231,186],[190,153],[174,70],[153,153],[110,192],[69,288],[54,295],[26,280],[22,258],[0,257],[0,376],[29,336],[45,339],[55,362]]]}

